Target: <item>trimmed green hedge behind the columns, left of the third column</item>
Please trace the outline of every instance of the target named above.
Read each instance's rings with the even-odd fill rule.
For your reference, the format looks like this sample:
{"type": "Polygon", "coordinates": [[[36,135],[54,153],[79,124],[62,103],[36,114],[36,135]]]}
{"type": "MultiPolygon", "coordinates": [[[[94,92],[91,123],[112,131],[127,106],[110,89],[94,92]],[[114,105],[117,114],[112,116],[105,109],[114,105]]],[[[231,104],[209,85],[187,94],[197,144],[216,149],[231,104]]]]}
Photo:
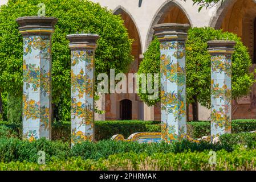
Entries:
{"type": "MultiPolygon", "coordinates": [[[[97,141],[110,139],[115,134],[123,134],[125,138],[137,132],[157,132],[160,131],[159,121],[95,121],[95,139],[97,141]]],[[[10,125],[8,122],[0,122],[0,136],[2,135],[22,135],[21,125],[10,125]],[[1,133],[3,127],[6,133],[1,133]],[[7,130],[9,127],[10,130],[7,130]]],[[[54,122],[52,123],[52,140],[70,141],[71,124],[70,122],[54,122]]]]}

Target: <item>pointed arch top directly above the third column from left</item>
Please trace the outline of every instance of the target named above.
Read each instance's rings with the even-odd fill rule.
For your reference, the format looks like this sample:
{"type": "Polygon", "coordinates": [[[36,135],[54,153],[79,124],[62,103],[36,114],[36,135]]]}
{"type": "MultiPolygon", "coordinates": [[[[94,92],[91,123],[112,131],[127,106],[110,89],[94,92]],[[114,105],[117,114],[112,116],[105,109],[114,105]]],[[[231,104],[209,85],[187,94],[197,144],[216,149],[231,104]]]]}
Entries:
{"type": "Polygon", "coordinates": [[[159,23],[188,23],[192,25],[191,19],[182,5],[176,1],[165,1],[157,10],[153,17],[151,26],[149,27],[147,34],[147,42],[145,44],[145,50],[147,50],[149,44],[152,42],[154,30],[153,26],[159,23]],[[172,16],[173,14],[176,16],[172,16]]]}

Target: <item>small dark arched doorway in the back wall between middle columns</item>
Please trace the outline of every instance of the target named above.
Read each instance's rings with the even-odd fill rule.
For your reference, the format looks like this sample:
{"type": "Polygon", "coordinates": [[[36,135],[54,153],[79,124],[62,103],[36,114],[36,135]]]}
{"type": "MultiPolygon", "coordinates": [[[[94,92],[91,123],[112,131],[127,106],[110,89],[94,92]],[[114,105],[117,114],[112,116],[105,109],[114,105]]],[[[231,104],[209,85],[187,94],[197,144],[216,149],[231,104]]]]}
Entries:
{"type": "Polygon", "coordinates": [[[120,118],[121,120],[132,119],[132,101],[128,99],[120,101],[120,118]]]}

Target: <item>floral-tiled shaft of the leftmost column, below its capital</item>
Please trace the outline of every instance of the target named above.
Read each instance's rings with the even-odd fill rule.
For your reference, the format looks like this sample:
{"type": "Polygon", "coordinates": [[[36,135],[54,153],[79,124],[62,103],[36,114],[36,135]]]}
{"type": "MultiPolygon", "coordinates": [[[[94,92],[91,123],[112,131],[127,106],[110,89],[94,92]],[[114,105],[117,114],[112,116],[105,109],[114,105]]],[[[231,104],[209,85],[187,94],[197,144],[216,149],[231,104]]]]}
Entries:
{"type": "Polygon", "coordinates": [[[50,138],[50,36],[23,38],[23,137],[50,138]]]}

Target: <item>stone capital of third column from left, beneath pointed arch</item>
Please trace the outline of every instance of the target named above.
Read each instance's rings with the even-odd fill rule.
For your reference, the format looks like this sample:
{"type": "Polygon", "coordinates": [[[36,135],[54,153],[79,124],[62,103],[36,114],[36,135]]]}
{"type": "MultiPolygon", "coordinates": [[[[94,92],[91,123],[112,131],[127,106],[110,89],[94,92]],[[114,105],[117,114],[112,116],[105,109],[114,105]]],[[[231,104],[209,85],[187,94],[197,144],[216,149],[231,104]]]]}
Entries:
{"type": "Polygon", "coordinates": [[[155,30],[155,35],[160,40],[160,42],[165,42],[166,40],[186,40],[188,34],[189,24],[180,23],[162,23],[153,26],[155,30]]]}

